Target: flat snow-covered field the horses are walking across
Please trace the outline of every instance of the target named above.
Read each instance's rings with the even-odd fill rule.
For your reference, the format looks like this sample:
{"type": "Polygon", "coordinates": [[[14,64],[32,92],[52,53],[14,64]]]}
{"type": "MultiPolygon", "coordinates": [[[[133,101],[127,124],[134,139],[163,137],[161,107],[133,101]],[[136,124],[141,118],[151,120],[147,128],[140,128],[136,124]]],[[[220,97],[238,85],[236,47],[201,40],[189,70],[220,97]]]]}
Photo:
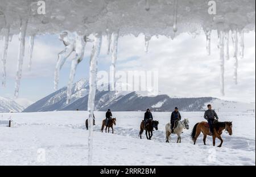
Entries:
{"type": "MultiPolygon", "coordinates": [[[[176,144],[176,135],[172,135],[170,144],[165,143],[164,125],[170,120],[167,112],[153,112],[160,122],[159,130],[154,131],[151,141],[144,133],[140,140],[143,114],[113,112],[117,125],[114,134],[106,134],[100,132],[105,112],[95,113],[93,165],[255,165],[255,113],[218,113],[221,121],[233,121],[233,136],[224,133],[221,148],[212,146],[211,137],[204,146],[202,135],[197,145],[192,144],[189,134],[193,125],[203,120],[203,112],[181,112],[183,119],[190,121],[181,144],[176,144]]],[[[0,118],[0,165],[87,165],[87,112],[11,115],[11,128],[3,121],[9,113],[0,118]]]]}

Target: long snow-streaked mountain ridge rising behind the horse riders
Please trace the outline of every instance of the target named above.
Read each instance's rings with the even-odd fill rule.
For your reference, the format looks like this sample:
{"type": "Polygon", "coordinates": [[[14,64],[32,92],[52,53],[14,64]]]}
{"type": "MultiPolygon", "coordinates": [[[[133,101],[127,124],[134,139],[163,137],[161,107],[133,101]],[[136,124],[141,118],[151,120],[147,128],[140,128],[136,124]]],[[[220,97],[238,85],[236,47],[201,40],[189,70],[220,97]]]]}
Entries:
{"type": "MultiPolygon", "coordinates": [[[[89,83],[81,79],[72,86],[72,99],[67,100],[67,87],[53,92],[51,95],[39,100],[24,109],[23,112],[46,112],[46,111],[81,111],[87,110],[89,83]]],[[[202,98],[170,98],[168,95],[142,96],[141,92],[127,91],[97,91],[95,98],[97,111],[144,111],[151,108],[153,111],[172,111],[179,107],[181,111],[204,111],[207,104],[212,104],[215,109],[222,112],[254,110],[254,104],[229,102],[212,97],[202,98]]]]}

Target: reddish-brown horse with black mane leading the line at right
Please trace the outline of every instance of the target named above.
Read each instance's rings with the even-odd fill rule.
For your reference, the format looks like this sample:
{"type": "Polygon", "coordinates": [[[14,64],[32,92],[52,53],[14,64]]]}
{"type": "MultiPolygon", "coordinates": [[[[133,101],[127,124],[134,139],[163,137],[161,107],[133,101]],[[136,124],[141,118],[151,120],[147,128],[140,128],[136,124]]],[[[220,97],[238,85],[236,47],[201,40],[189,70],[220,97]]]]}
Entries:
{"type": "Polygon", "coordinates": [[[204,138],[203,138],[204,145],[206,145],[205,140],[208,135],[208,136],[212,136],[213,146],[215,146],[216,137],[221,141],[221,144],[218,145],[218,147],[221,147],[222,143],[223,143],[223,140],[221,138],[221,134],[222,134],[223,130],[228,132],[230,136],[232,135],[232,122],[222,122],[222,123],[217,122],[217,123],[213,124],[213,127],[214,127],[213,128],[214,133],[212,135],[210,135],[210,128],[209,128],[209,124],[207,122],[203,121],[201,123],[197,123],[194,126],[192,133],[191,133],[191,138],[194,142],[194,145],[196,144],[197,137],[199,137],[201,132],[204,134],[204,138]]]}

